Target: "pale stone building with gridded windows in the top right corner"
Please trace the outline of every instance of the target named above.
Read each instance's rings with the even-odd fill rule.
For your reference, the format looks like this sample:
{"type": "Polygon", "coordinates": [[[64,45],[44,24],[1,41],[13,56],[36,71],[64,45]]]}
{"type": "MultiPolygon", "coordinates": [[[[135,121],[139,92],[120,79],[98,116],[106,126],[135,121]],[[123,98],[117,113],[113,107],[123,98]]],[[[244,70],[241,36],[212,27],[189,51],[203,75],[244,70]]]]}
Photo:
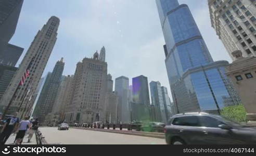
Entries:
{"type": "Polygon", "coordinates": [[[212,27],[229,56],[256,56],[256,2],[253,0],[208,0],[212,27]]]}

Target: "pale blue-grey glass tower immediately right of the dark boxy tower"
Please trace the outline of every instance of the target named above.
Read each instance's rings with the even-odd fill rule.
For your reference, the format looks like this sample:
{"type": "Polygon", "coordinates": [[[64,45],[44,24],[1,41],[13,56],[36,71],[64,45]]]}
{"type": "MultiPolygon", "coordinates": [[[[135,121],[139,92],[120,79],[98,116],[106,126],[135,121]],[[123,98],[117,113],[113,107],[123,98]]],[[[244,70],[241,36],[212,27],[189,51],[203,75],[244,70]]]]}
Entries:
{"type": "Polygon", "coordinates": [[[152,102],[152,105],[155,106],[155,112],[156,112],[155,120],[158,122],[166,122],[167,118],[166,118],[166,113],[164,108],[161,83],[151,81],[149,83],[149,86],[150,86],[151,102],[152,102]]]}

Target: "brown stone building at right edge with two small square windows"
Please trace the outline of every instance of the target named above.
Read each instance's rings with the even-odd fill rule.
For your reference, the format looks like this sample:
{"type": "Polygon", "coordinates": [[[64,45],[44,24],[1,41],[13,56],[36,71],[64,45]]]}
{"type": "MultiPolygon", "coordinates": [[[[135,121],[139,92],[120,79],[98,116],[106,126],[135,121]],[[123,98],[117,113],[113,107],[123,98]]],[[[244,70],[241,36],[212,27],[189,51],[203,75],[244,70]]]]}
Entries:
{"type": "Polygon", "coordinates": [[[256,121],[256,57],[244,58],[240,50],[233,55],[236,60],[227,67],[227,76],[238,89],[247,119],[256,121]]]}

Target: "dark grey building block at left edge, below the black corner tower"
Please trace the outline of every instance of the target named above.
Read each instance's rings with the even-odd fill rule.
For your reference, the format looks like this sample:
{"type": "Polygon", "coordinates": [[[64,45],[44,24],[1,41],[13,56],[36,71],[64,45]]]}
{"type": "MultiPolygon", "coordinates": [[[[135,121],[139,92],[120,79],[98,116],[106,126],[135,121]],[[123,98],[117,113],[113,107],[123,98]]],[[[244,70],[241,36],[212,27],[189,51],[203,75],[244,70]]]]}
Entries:
{"type": "Polygon", "coordinates": [[[4,53],[0,53],[0,63],[15,67],[23,50],[21,47],[7,44],[4,53]]]}

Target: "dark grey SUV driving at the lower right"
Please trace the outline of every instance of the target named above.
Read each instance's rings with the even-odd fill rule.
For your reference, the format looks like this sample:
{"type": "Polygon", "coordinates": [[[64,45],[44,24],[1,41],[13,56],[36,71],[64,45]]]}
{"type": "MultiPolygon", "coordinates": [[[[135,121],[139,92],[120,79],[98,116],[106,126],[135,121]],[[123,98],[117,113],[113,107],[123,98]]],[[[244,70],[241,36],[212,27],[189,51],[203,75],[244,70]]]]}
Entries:
{"type": "Polygon", "coordinates": [[[208,113],[174,115],[164,128],[167,144],[256,144],[256,129],[208,113]]]}

